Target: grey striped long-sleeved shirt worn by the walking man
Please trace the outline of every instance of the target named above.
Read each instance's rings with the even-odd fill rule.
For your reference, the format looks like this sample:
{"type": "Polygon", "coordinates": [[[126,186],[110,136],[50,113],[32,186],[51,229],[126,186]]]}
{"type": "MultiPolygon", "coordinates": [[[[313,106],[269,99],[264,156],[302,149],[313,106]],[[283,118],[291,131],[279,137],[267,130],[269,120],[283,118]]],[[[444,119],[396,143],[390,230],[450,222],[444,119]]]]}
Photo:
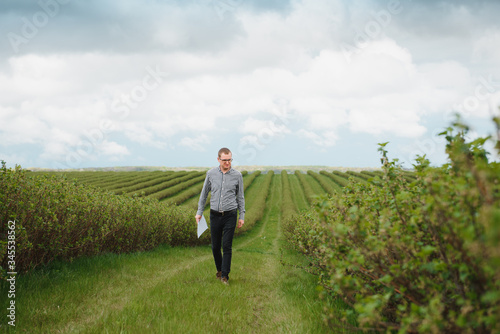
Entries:
{"type": "Polygon", "coordinates": [[[220,167],[214,167],[207,172],[196,214],[203,214],[208,193],[212,192],[210,209],[215,211],[238,209],[240,219],[245,219],[245,195],[243,191],[243,176],[240,172],[231,168],[223,173],[220,167]]]}

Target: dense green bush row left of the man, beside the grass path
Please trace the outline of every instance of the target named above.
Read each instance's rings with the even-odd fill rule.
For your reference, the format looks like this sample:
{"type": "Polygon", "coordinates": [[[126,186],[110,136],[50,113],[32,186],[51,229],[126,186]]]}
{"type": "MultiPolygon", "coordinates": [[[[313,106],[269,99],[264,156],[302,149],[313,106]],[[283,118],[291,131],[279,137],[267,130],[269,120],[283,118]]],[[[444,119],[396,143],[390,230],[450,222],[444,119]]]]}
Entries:
{"type": "Polygon", "coordinates": [[[54,259],[132,252],[159,244],[193,245],[196,224],[186,208],[150,198],[116,196],[76,180],[0,172],[0,261],[7,265],[8,222],[16,222],[16,271],[54,259]]]}

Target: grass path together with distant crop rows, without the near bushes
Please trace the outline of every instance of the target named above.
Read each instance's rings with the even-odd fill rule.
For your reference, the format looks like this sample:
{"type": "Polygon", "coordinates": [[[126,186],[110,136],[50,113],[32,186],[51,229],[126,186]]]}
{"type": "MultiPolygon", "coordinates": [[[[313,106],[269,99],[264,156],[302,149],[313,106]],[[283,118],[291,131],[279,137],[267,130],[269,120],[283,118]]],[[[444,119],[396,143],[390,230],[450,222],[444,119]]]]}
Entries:
{"type": "MultiPolygon", "coordinates": [[[[17,330],[330,332],[317,300],[316,278],[296,268],[306,265],[305,259],[283,240],[282,177],[290,183],[292,211],[298,212],[327,189],[341,189],[349,178],[363,182],[375,175],[336,173],[330,178],[331,172],[243,171],[247,214],[244,228],[237,230],[229,287],[216,284],[213,277],[208,232],[203,244],[195,247],[161,245],[149,251],[82,256],[70,262],[55,259],[18,276],[17,330]]],[[[77,180],[113,196],[148,197],[166,206],[183,206],[193,224],[205,175],[202,171],[27,174],[34,179],[64,177],[66,182],[77,180]]],[[[209,218],[206,211],[205,217],[209,218]]],[[[6,295],[6,285],[2,288],[6,295]]],[[[2,328],[8,329],[5,322],[2,328]]]]}

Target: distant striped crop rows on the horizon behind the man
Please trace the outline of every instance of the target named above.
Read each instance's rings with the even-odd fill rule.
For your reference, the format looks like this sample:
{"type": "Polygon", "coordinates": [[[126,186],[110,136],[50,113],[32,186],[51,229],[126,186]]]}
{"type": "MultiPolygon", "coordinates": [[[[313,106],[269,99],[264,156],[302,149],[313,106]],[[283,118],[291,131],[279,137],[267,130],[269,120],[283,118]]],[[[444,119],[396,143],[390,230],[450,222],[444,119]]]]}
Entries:
{"type": "MultiPolygon", "coordinates": [[[[379,171],[307,171],[307,173],[282,171],[281,175],[288,176],[291,199],[295,208],[301,210],[309,206],[318,195],[341,191],[349,178],[358,182],[367,182],[380,173],[379,171]]],[[[274,173],[242,171],[242,174],[246,209],[249,214],[247,220],[257,221],[260,217],[253,212],[261,212],[265,209],[265,198],[274,173]]],[[[117,195],[156,198],[165,203],[183,205],[196,210],[205,172],[66,172],[64,176],[68,180],[76,179],[80,183],[90,184],[117,195]]]]}

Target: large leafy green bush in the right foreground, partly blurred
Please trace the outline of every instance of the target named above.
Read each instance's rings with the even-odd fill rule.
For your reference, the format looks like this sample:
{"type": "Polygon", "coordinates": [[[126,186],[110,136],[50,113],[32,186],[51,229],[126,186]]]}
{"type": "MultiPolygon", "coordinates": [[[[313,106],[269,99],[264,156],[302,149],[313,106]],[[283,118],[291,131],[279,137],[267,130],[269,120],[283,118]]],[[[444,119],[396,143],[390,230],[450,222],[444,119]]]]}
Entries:
{"type": "Polygon", "coordinates": [[[351,305],[344,319],[382,332],[500,331],[500,166],[466,132],[447,129],[449,163],[419,157],[411,178],[381,144],[382,177],[351,180],[296,218],[288,240],[323,293],[351,305]]]}

